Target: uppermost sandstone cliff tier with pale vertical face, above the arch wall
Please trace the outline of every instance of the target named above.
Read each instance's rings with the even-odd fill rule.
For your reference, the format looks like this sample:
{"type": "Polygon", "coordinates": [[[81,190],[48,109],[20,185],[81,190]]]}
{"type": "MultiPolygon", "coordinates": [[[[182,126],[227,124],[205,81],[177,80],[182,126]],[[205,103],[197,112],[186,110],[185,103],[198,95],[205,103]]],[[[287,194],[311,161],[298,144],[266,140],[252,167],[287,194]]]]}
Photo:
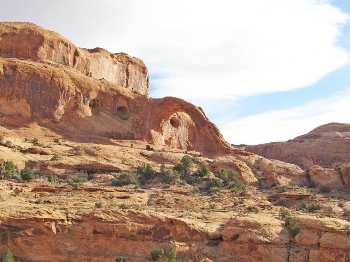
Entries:
{"type": "Polygon", "coordinates": [[[78,48],[56,32],[31,23],[0,23],[0,56],[49,60],[141,94],[149,93],[148,70],[140,59],[102,48],[78,48]]]}

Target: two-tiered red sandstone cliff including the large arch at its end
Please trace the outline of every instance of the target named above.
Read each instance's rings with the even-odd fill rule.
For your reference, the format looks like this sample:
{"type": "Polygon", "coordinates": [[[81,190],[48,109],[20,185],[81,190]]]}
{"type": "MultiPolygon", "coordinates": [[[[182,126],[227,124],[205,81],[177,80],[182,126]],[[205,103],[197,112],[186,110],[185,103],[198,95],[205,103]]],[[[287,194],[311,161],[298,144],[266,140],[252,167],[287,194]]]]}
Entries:
{"type": "Polygon", "coordinates": [[[146,139],[208,154],[231,150],[200,108],[143,95],[149,92],[148,72],[137,58],[79,49],[29,23],[0,23],[0,35],[3,121],[36,121],[64,132],[146,139]]]}

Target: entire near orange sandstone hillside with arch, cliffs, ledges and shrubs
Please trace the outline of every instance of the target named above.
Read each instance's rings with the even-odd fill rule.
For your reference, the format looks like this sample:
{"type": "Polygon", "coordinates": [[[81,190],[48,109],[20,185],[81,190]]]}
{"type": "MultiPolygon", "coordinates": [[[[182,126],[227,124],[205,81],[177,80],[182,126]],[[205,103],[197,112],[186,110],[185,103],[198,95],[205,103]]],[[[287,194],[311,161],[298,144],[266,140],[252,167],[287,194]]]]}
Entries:
{"type": "Polygon", "coordinates": [[[0,23],[0,257],[350,259],[350,163],[304,171],[232,148],[201,108],[148,91],[137,58],[0,23]]]}

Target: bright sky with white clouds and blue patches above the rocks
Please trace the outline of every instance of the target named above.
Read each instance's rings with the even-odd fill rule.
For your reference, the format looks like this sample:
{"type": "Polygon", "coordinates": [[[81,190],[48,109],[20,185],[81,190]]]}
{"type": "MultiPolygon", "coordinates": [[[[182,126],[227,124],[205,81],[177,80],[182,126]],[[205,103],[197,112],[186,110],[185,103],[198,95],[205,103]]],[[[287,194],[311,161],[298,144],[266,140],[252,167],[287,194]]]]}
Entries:
{"type": "Polygon", "coordinates": [[[203,108],[232,144],[350,123],[348,0],[3,1],[79,47],[142,59],[150,96],[203,108]],[[14,4],[16,3],[16,4],[14,4]]]}

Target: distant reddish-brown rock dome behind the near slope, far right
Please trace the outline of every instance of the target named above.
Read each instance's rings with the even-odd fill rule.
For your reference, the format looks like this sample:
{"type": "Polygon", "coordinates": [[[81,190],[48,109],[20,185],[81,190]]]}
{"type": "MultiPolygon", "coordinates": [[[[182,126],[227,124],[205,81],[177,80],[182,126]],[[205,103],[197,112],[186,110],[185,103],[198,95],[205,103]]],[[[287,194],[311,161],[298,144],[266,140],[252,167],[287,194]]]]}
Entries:
{"type": "Polygon", "coordinates": [[[350,162],[350,124],[321,125],[291,141],[247,146],[245,151],[267,159],[293,163],[303,169],[313,165],[321,167],[341,165],[350,162]]]}

